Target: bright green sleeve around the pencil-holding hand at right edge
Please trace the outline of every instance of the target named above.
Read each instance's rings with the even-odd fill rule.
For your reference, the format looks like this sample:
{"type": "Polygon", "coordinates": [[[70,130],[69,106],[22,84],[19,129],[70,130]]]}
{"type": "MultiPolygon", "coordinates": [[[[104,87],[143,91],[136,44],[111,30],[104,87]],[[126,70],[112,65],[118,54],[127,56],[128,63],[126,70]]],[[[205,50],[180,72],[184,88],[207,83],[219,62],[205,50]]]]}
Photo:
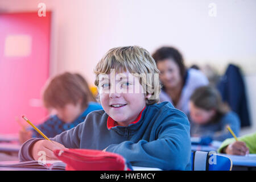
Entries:
{"type": "MultiPolygon", "coordinates": [[[[245,142],[246,146],[249,148],[250,154],[256,154],[256,133],[244,135],[243,137],[239,137],[238,140],[245,142]]],[[[229,144],[235,142],[234,138],[228,138],[222,142],[220,148],[218,148],[218,152],[222,153],[223,149],[227,147],[229,144]]]]}

